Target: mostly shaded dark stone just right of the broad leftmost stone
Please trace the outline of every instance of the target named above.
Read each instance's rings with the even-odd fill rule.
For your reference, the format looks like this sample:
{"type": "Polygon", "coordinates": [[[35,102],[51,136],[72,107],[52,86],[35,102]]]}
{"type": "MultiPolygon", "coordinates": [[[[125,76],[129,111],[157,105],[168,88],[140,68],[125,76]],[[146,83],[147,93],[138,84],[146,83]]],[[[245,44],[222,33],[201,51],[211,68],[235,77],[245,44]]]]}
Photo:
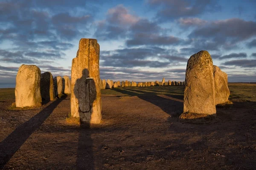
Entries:
{"type": "Polygon", "coordinates": [[[50,72],[45,72],[41,74],[40,91],[42,100],[55,99],[54,82],[52,74],[50,72]]]}

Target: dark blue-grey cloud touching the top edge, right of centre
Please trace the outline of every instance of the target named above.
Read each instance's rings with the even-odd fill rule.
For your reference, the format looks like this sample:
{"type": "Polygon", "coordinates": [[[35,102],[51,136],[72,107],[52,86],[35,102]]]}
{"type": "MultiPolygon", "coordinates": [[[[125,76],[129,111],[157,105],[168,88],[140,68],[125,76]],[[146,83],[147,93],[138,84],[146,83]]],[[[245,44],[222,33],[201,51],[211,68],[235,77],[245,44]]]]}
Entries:
{"type": "Polygon", "coordinates": [[[147,2],[152,8],[159,9],[156,18],[160,21],[220,10],[215,0],[147,0],[147,2]]]}

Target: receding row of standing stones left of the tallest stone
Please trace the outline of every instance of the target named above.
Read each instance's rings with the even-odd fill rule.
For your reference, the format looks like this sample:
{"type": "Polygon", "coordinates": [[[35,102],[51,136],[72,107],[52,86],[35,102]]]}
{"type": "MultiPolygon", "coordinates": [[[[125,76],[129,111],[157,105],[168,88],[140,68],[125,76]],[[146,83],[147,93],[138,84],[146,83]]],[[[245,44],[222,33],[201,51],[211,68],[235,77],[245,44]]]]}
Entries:
{"type": "Polygon", "coordinates": [[[70,79],[50,72],[41,74],[36,65],[21,65],[15,86],[15,105],[19,108],[41,106],[42,100],[55,100],[55,96],[70,94],[70,79]]]}

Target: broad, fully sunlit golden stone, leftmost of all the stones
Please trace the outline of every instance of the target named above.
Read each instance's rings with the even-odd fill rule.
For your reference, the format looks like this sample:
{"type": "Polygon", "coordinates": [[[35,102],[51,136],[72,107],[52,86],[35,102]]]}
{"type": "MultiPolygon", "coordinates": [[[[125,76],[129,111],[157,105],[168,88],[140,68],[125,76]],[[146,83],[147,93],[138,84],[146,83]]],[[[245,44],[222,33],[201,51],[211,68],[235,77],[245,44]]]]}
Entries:
{"type": "Polygon", "coordinates": [[[41,71],[35,65],[21,65],[15,86],[16,107],[38,107],[41,106],[40,93],[41,71]]]}

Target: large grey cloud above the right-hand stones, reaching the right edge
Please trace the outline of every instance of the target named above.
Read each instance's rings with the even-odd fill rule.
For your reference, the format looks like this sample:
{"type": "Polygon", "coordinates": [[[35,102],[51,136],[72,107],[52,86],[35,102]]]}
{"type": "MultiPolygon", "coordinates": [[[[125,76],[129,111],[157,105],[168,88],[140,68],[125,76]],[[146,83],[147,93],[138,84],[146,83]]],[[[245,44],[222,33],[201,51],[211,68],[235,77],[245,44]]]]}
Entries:
{"type": "Polygon", "coordinates": [[[247,40],[256,35],[256,22],[245,21],[239,18],[219,20],[204,27],[195,28],[190,38],[198,41],[212,41],[217,48],[234,48],[237,42],[247,40]],[[200,39],[201,38],[201,39],[200,39]]]}

